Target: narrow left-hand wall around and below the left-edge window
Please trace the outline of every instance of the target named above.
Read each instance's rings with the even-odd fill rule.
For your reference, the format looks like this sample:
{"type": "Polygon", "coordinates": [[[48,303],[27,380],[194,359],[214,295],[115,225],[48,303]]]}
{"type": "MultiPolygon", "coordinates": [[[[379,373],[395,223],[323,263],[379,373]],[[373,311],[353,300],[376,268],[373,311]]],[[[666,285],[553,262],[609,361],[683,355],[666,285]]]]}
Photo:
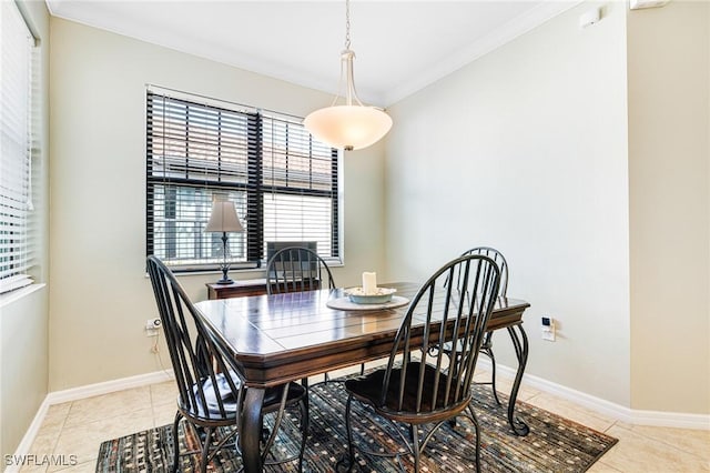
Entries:
{"type": "MultiPolygon", "coordinates": [[[[40,40],[38,134],[32,162],[37,261],[32,275],[47,283],[49,189],[49,13],[44,2],[21,2],[21,11],[40,40]]],[[[48,286],[0,303],[0,453],[14,453],[48,392],[48,286]]],[[[4,463],[3,463],[4,464],[4,463]]]]}

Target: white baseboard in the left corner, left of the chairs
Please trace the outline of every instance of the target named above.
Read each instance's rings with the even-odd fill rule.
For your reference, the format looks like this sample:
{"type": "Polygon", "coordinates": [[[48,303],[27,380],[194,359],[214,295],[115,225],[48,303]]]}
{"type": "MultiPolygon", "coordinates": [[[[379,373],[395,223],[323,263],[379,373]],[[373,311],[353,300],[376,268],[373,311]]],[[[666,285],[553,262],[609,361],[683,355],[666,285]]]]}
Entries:
{"type": "MultiPolygon", "coordinates": [[[[18,445],[14,455],[16,457],[24,457],[24,455],[31,453],[30,447],[37,437],[37,434],[42,426],[42,422],[47,416],[50,405],[61,404],[63,402],[79,401],[81,399],[91,397],[94,395],[109,394],[116,391],[123,391],[132,388],[145,386],[154,383],[162,383],[173,379],[172,370],[156,371],[154,373],[139,374],[136,376],[122,378],[120,380],[106,381],[103,383],[88,384],[85,386],[72,388],[69,390],[54,391],[44,397],[44,401],[40,404],[34,414],[34,419],[29,429],[22,436],[22,441],[18,445]]],[[[6,473],[16,473],[20,471],[20,464],[8,465],[4,470],[6,473]]]]}

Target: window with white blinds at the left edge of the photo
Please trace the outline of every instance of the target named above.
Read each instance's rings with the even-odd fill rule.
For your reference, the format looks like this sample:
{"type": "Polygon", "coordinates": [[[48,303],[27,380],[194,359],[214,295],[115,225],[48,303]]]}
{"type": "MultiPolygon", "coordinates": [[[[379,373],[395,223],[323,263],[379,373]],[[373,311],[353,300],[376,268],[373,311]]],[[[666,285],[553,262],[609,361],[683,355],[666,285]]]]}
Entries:
{"type": "Polygon", "coordinates": [[[2,8],[0,66],[0,293],[31,284],[34,38],[14,2],[2,8]]]}

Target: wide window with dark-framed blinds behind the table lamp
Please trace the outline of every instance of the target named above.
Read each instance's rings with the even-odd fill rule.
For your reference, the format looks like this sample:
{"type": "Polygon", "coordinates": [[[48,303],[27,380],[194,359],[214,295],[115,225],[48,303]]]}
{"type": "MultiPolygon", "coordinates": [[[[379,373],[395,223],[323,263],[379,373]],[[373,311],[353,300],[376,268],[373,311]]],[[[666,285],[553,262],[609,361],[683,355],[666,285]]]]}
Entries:
{"type": "Polygon", "coordinates": [[[212,200],[227,199],[245,229],[229,235],[232,268],[261,266],[274,241],[341,258],[338,152],[300,119],[151,87],[146,125],[148,254],[214,269],[221,235],[203,229],[212,200]]]}

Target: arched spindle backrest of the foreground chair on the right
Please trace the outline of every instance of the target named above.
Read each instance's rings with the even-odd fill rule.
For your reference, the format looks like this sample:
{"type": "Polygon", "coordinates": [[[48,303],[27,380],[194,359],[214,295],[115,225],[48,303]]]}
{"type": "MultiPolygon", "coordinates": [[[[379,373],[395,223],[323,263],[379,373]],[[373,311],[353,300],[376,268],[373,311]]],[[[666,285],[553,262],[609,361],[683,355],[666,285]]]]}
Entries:
{"type": "Polygon", "coordinates": [[[493,259],[468,254],[448,262],[422,285],[395,338],[381,405],[403,412],[435,413],[468,402],[478,351],[499,284],[500,270],[493,259]],[[453,353],[429,350],[447,342],[453,353]],[[397,399],[386,399],[393,392],[397,399]]]}

